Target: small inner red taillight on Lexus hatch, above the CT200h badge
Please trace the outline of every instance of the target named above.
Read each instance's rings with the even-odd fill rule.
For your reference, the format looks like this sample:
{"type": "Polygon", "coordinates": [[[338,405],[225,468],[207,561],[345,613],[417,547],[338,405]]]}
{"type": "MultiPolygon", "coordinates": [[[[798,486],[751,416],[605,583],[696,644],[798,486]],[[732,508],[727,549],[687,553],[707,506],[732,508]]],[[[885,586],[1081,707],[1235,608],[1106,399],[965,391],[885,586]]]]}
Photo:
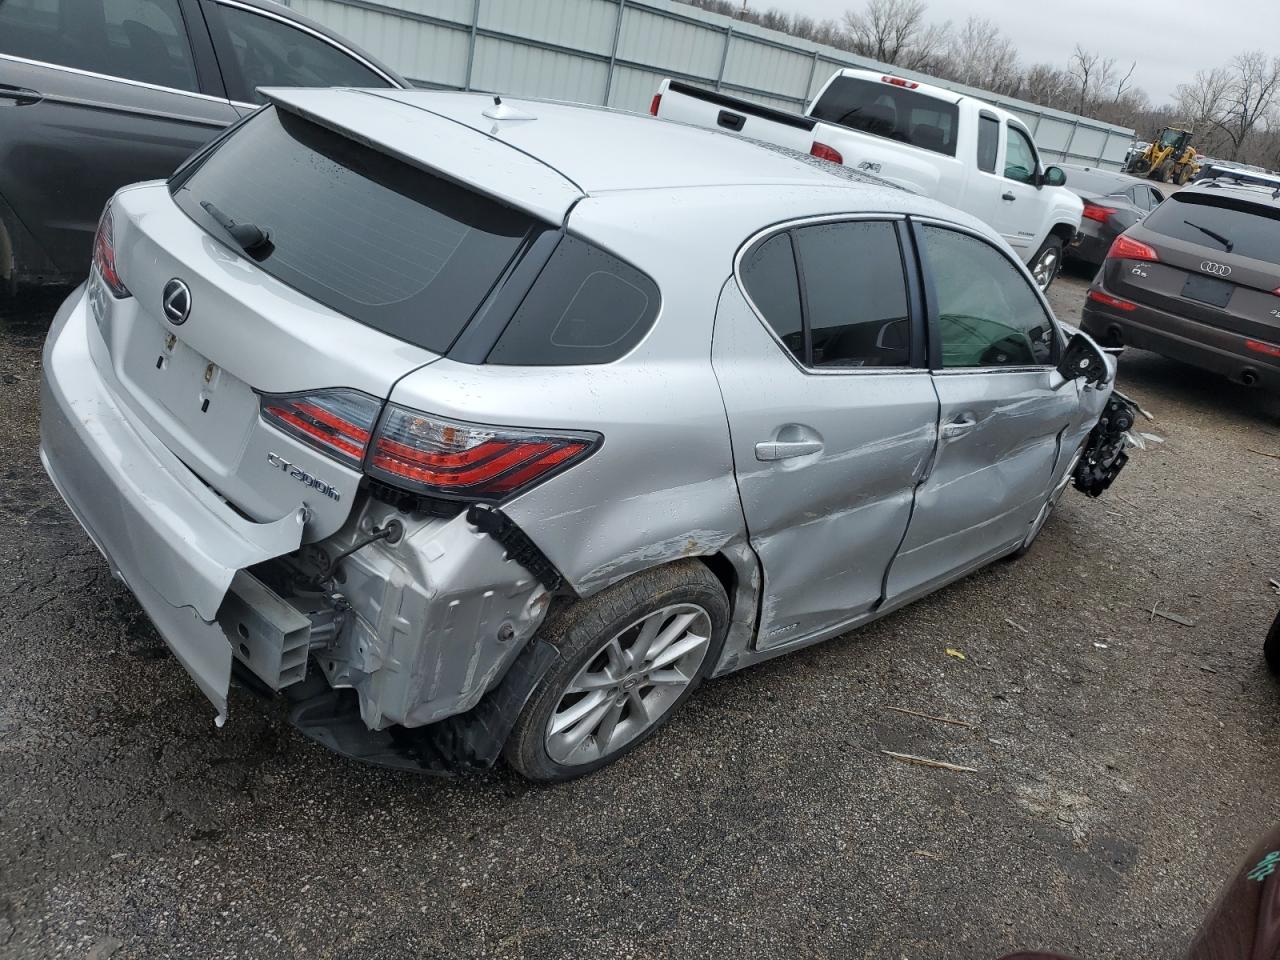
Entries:
{"type": "Polygon", "coordinates": [[[291,436],[360,468],[381,402],[357,390],[271,394],[259,398],[266,422],[291,436]]]}

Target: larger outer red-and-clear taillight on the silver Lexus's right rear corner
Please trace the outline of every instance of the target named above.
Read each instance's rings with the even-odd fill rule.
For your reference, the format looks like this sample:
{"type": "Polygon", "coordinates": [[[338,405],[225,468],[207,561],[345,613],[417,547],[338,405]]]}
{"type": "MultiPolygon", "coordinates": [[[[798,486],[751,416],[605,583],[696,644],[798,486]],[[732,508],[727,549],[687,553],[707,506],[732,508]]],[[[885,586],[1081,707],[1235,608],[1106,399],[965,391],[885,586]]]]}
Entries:
{"type": "Polygon", "coordinates": [[[460,424],[389,404],[365,470],[428,495],[498,499],[588,457],[598,434],[460,424]]]}

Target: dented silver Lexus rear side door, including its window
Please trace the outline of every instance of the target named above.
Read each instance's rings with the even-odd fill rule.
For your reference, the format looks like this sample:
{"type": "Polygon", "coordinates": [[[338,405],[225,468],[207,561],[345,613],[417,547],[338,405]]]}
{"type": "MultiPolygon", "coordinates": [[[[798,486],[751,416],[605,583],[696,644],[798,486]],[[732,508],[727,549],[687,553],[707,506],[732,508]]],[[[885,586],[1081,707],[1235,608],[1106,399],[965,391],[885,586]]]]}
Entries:
{"type": "Polygon", "coordinates": [[[799,223],[749,243],[716,316],[751,547],[758,646],[878,605],[933,452],[937,397],[905,221],[799,223]]]}

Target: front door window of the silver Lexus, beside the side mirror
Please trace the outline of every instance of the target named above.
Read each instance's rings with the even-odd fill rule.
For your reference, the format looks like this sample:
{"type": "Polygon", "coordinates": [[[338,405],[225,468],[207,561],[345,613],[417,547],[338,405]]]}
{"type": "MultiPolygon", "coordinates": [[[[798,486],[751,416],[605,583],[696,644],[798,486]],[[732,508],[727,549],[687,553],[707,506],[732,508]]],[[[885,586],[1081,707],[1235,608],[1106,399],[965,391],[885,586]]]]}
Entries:
{"type": "Polygon", "coordinates": [[[940,227],[923,227],[922,233],[943,369],[1053,362],[1053,323],[1004,253],[968,233],[940,227]]]}

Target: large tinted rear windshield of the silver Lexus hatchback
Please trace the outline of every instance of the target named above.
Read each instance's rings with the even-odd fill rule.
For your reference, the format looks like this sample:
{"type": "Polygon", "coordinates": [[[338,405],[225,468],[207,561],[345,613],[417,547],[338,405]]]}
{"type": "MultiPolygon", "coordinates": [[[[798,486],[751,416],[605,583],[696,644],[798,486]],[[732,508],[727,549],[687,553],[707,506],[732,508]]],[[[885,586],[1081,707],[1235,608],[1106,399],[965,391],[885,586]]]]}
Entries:
{"type": "Polygon", "coordinates": [[[266,273],[438,353],[534,229],[525,214],[275,108],[175,182],[178,205],[220,241],[236,246],[219,218],[265,230],[269,244],[250,255],[266,273]]]}

